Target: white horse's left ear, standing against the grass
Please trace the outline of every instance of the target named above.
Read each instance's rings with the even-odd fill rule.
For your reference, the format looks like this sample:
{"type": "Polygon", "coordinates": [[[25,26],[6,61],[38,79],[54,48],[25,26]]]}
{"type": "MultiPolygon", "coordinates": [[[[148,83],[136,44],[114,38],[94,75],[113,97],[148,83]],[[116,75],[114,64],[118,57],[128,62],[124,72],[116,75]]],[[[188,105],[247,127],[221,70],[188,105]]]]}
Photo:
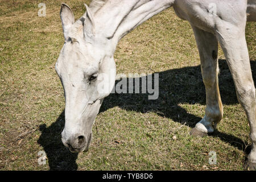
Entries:
{"type": "Polygon", "coordinates": [[[62,23],[64,38],[67,39],[67,28],[75,22],[75,17],[70,7],[64,3],[61,4],[60,19],[62,23]]]}

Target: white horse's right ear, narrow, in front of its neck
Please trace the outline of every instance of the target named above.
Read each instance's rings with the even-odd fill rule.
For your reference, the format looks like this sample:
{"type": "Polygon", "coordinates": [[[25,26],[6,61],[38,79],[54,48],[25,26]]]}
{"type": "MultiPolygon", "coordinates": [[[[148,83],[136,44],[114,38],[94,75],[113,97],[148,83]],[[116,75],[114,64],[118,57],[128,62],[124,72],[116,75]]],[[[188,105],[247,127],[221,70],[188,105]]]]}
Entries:
{"type": "Polygon", "coordinates": [[[85,25],[84,25],[84,36],[94,36],[94,27],[95,27],[95,23],[94,23],[94,18],[92,15],[92,11],[90,10],[90,8],[84,4],[86,7],[86,13],[84,14],[84,18],[85,18],[85,25]]]}

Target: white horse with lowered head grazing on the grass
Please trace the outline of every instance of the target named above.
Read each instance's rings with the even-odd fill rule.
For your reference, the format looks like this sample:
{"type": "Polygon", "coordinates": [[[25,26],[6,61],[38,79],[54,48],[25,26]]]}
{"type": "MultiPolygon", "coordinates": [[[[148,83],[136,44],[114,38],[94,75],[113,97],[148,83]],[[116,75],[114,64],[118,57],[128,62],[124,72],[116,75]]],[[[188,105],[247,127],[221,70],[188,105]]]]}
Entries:
{"type": "MultiPolygon", "coordinates": [[[[86,6],[86,5],[85,5],[86,6]]],[[[139,24],[168,7],[188,20],[195,34],[205,84],[207,107],[192,135],[207,135],[223,115],[218,88],[218,43],[229,65],[238,101],[250,125],[251,152],[247,167],[256,167],[255,87],[245,40],[247,21],[256,21],[256,0],[93,0],[75,21],[61,5],[65,43],[55,69],[65,93],[62,140],[72,152],[88,151],[92,126],[104,97],[115,82],[113,59],[118,41],[139,24]],[[102,76],[103,75],[103,76],[102,76]],[[108,78],[108,79],[106,79],[108,78]],[[104,85],[102,92],[101,85],[104,85]]]]}

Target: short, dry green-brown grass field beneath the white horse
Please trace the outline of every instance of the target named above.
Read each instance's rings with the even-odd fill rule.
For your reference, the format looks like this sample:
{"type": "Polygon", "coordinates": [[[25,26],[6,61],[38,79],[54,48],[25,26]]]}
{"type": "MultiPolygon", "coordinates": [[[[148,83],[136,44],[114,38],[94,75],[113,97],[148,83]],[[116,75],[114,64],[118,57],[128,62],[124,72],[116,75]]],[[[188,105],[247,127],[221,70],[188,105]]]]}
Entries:
{"type": "MultiPolygon", "coordinates": [[[[61,2],[79,18],[84,2],[0,0],[1,170],[243,170],[249,125],[219,51],[224,118],[209,137],[189,135],[204,116],[205,89],[192,28],[168,9],[123,38],[117,73],[159,73],[159,98],[110,94],[93,127],[89,152],[71,154],[61,143],[64,94],[55,62],[64,43],[61,2]],[[46,3],[46,17],[38,4],[46,3]],[[39,165],[39,151],[46,164],[39,165]],[[208,163],[210,151],[217,164],[208,163]]],[[[246,39],[256,79],[256,23],[246,39]]]]}

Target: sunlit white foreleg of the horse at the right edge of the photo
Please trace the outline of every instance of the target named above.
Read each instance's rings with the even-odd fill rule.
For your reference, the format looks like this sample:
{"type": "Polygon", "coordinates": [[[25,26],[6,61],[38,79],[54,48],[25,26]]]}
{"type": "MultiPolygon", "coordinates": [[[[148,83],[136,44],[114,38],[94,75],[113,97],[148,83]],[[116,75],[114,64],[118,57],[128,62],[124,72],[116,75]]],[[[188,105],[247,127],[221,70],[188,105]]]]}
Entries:
{"type": "MultiPolygon", "coordinates": [[[[245,39],[245,23],[239,26],[221,24],[216,36],[224,51],[226,61],[236,86],[237,98],[246,111],[250,125],[251,152],[247,156],[247,167],[256,169],[256,119],[255,86],[250,68],[249,53],[245,39]]],[[[246,167],[246,168],[247,168],[246,167]]]]}

